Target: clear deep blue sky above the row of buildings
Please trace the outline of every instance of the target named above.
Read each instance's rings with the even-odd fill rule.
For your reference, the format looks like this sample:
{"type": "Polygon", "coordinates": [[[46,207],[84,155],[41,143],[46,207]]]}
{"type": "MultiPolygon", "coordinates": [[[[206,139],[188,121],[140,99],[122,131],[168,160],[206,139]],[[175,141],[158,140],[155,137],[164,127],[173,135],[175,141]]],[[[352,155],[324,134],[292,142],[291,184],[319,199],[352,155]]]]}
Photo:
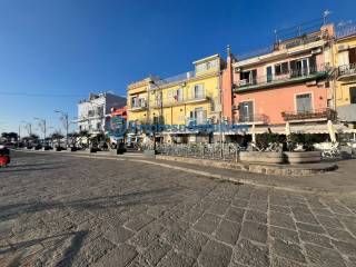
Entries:
{"type": "MultiPolygon", "coordinates": [[[[356,20],[355,0],[0,0],[0,132],[33,117],[61,127],[90,91],[126,95],[150,73],[267,47],[274,29],[323,16],[356,20]]],[[[37,128],[33,126],[33,128],[37,128]]],[[[23,130],[22,130],[23,131],[23,130]]]]}

